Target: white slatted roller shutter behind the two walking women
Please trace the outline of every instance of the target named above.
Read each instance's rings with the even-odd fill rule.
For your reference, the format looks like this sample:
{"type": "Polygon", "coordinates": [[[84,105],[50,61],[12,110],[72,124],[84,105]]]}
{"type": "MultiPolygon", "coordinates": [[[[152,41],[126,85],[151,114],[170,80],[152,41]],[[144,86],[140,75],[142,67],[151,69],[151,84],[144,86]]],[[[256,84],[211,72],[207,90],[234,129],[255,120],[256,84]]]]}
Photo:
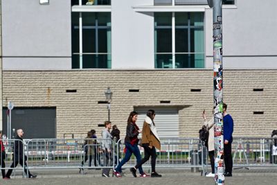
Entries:
{"type": "Polygon", "coordinates": [[[160,138],[179,137],[179,114],[177,108],[135,107],[134,110],[139,113],[136,124],[141,130],[148,109],[154,109],[156,112],[154,123],[160,138]]]}

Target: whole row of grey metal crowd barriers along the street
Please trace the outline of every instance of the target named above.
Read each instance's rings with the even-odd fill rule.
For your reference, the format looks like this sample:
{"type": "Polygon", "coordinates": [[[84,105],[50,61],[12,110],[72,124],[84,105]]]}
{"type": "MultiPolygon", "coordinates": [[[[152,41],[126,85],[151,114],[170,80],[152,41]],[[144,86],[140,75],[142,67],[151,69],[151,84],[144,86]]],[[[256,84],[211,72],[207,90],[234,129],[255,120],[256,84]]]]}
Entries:
{"type": "MultiPolygon", "coordinates": [[[[3,140],[6,154],[1,153],[1,159],[6,163],[1,169],[19,170],[28,177],[28,169],[76,168],[83,174],[88,168],[112,168],[125,156],[124,143],[112,142],[111,153],[102,150],[105,139],[30,139],[3,140]],[[19,148],[24,146],[23,148],[19,148]],[[15,155],[22,150],[26,157],[15,155]],[[15,157],[14,157],[15,156],[15,157]],[[109,158],[107,158],[109,157],[109,158]],[[14,159],[15,158],[15,159],[14,159]],[[108,161],[107,161],[108,160],[108,161]],[[16,161],[22,164],[11,166],[16,161]]],[[[143,156],[143,147],[139,146],[143,156]]],[[[232,145],[234,167],[277,167],[277,147],[274,148],[271,138],[234,138],[232,145]]],[[[23,156],[24,156],[23,155],[23,156]]],[[[2,163],[3,164],[3,163],[2,163]]],[[[134,155],[123,166],[130,168],[136,164],[134,155]]],[[[190,168],[194,172],[205,174],[208,164],[208,151],[199,139],[179,138],[161,139],[161,150],[157,150],[157,168],[190,168]]],[[[150,161],[143,168],[151,168],[150,161]]],[[[24,175],[24,176],[25,176],[24,175]]]]}

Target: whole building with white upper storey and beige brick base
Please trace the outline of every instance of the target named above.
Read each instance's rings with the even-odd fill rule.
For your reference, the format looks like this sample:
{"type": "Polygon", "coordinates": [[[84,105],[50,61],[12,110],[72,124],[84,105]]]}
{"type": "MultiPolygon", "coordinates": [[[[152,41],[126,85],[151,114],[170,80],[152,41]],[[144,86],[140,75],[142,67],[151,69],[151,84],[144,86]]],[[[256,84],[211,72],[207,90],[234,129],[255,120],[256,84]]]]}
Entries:
{"type": "MultiPolygon", "coordinates": [[[[265,85],[269,79],[276,80],[276,7],[275,0],[224,1],[224,101],[236,117],[238,136],[247,127],[246,114],[265,116],[271,112],[265,102],[276,103],[271,94],[276,87],[267,91],[265,85]],[[248,113],[239,107],[242,100],[245,104],[249,101],[235,91],[244,73],[249,81],[243,92],[255,98],[265,96],[265,100],[257,98],[261,102],[254,107],[249,104],[248,113]],[[262,73],[267,76],[256,80],[262,73]],[[256,94],[257,89],[262,95],[256,94]]],[[[2,0],[3,106],[13,100],[20,111],[53,108],[55,121],[49,136],[82,135],[105,121],[105,107],[99,106],[105,104],[103,91],[111,87],[116,90],[111,121],[122,130],[129,111],[143,114],[153,108],[160,113],[162,136],[197,136],[202,109],[213,105],[212,17],[206,0],[2,0]],[[151,79],[144,79],[143,74],[151,79]],[[149,86],[151,81],[154,84],[149,86]],[[64,93],[74,95],[66,99],[64,93]],[[76,95],[79,102],[73,109],[65,102],[76,95]],[[123,97],[126,101],[120,101],[123,97]],[[82,105],[93,110],[85,114],[82,105]],[[84,114],[76,113],[79,108],[84,114]]],[[[264,120],[253,118],[255,123],[264,120]]],[[[268,120],[269,127],[261,125],[264,130],[256,136],[269,132],[272,120],[274,117],[268,120]]],[[[248,121],[253,122],[251,118],[248,121]]]]}

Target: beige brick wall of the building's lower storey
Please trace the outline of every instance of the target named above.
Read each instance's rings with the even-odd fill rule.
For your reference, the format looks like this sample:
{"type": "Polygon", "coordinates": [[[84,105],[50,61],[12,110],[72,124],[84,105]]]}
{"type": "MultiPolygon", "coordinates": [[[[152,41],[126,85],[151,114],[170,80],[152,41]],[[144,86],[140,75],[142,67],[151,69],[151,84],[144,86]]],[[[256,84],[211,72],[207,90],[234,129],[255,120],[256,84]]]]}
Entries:
{"type": "MultiPolygon", "coordinates": [[[[202,110],[213,107],[211,70],[84,70],[3,71],[3,105],[57,107],[57,137],[63,133],[98,136],[107,120],[107,87],[113,91],[111,121],[125,134],[127,116],[134,106],[179,106],[180,136],[198,136],[202,110]],[[77,93],[66,93],[77,89],[77,93]],[[129,92],[139,89],[139,92],[129,92]],[[191,92],[190,89],[202,89],[191,92]],[[160,100],[170,100],[163,105],[160,100]]],[[[235,122],[234,136],[269,136],[277,129],[277,70],[225,70],[224,102],[235,122]],[[253,91],[262,88],[264,91],[253,91]],[[265,114],[253,115],[253,111],[265,114]]],[[[208,114],[211,117],[211,114],[208,114]]]]}

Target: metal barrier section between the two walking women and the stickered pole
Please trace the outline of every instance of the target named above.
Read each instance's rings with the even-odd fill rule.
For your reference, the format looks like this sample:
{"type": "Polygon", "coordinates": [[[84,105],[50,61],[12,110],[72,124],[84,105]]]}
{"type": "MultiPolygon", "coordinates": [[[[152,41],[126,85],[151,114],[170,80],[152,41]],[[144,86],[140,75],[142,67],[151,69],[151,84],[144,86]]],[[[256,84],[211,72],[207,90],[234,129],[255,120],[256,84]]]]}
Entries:
{"type": "MultiPolygon", "coordinates": [[[[118,141],[120,143],[120,141],[118,141]]],[[[117,146],[118,146],[117,143],[117,146]]],[[[118,148],[117,156],[122,155],[124,157],[123,149],[124,144],[121,144],[121,148],[118,148]]],[[[139,146],[141,155],[143,156],[143,147],[139,146]]],[[[161,150],[157,150],[157,168],[191,168],[195,172],[197,169],[205,169],[206,161],[206,148],[202,146],[199,139],[193,138],[170,138],[161,139],[161,150]],[[203,152],[204,149],[204,152],[203,152]]],[[[117,163],[119,162],[119,159],[117,163]]],[[[136,159],[134,155],[132,158],[123,166],[123,168],[131,168],[136,165],[136,159]]],[[[150,161],[143,164],[143,168],[150,168],[150,161]]]]}

